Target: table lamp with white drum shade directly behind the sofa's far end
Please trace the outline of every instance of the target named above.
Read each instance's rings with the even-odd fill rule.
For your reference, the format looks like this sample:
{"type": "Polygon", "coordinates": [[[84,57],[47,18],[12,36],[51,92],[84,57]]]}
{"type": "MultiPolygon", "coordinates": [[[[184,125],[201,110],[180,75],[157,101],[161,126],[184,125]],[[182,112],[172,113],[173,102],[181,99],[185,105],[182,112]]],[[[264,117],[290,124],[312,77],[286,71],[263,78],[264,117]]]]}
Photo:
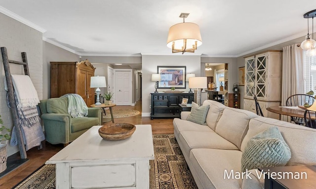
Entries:
{"type": "Polygon", "coordinates": [[[190,77],[189,88],[194,90],[194,102],[201,105],[201,89],[207,88],[207,77],[190,77]]]}

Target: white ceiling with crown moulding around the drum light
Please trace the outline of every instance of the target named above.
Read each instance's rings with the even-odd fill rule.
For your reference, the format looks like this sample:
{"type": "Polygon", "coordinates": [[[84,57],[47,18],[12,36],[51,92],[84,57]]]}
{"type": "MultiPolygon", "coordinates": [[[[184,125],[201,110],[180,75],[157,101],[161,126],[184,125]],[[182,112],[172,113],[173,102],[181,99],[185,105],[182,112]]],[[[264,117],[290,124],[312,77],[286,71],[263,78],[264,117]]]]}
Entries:
{"type": "Polygon", "coordinates": [[[43,40],[81,56],[171,55],[168,30],[186,12],[203,44],[185,55],[239,57],[306,35],[303,14],[316,9],[316,0],[0,0],[0,6],[42,31],[43,40]]]}

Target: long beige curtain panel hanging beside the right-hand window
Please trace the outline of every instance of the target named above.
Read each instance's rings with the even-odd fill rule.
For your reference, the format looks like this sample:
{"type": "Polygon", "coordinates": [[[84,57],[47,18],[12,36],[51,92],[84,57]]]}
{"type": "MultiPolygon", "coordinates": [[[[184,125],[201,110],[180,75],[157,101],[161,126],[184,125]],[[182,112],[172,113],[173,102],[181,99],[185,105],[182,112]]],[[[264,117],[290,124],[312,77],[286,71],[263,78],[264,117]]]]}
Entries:
{"type": "MultiPolygon", "coordinates": [[[[281,106],[295,94],[304,94],[304,61],[300,44],[283,47],[281,106]]],[[[291,122],[290,116],[281,115],[281,120],[291,122]]]]}

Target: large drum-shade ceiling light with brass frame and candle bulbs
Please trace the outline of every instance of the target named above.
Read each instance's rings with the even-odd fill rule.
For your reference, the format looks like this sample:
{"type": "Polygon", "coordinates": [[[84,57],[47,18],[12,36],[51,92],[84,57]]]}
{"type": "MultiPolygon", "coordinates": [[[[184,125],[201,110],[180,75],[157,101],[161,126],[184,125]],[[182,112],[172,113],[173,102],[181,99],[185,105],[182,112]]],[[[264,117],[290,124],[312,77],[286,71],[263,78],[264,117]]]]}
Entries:
{"type": "Polygon", "coordinates": [[[189,14],[181,13],[179,17],[183,18],[183,23],[175,24],[169,29],[167,47],[172,49],[172,53],[194,53],[202,44],[198,25],[184,21],[189,14]]]}

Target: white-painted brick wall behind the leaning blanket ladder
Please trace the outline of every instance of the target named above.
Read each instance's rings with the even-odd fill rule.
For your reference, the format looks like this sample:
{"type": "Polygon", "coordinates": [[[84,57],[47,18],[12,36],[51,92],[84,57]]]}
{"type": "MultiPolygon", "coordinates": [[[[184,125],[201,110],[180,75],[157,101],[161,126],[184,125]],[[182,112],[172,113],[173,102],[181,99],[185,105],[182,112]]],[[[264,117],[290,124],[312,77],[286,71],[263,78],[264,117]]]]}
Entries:
{"type": "MultiPolygon", "coordinates": [[[[43,97],[42,33],[0,13],[0,47],[6,47],[9,60],[22,61],[21,52],[26,52],[29,71],[39,98],[43,97]]],[[[23,66],[10,64],[11,74],[24,74],[23,66]]],[[[4,69],[0,56],[0,115],[4,126],[13,127],[11,110],[6,105],[3,88],[4,69]]],[[[18,152],[17,146],[7,146],[7,155],[18,152]]]]}

